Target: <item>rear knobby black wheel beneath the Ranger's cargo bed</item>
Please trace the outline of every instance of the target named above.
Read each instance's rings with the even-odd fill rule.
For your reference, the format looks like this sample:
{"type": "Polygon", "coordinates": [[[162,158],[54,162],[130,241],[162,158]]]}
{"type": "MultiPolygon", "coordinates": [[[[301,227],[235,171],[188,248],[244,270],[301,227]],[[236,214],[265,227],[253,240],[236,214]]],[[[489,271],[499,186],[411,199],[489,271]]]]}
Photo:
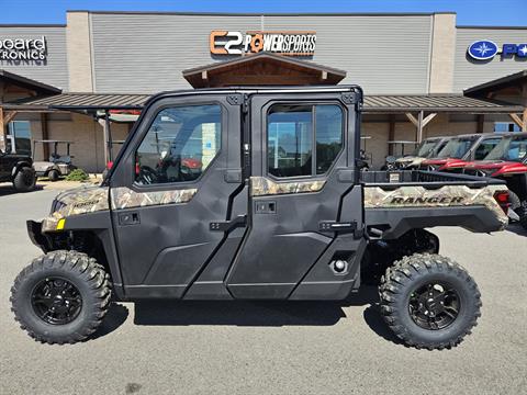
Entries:
{"type": "Polygon", "coordinates": [[[457,346],[481,316],[474,280],[439,255],[404,257],[386,270],[379,292],[384,320],[395,336],[416,348],[457,346]]]}

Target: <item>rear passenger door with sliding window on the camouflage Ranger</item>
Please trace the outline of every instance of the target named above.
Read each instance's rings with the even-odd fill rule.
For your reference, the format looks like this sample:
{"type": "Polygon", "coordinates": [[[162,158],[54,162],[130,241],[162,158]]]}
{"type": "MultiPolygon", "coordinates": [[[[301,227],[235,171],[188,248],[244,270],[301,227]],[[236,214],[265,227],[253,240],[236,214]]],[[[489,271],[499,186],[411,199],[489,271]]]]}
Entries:
{"type": "MultiPolygon", "coordinates": [[[[321,226],[343,217],[343,199],[355,187],[358,149],[355,106],[339,98],[251,99],[250,221],[227,276],[235,297],[294,298],[332,248],[336,234],[321,226]]],[[[346,215],[360,222],[358,203],[346,215]]],[[[355,249],[355,241],[346,248],[355,249]]],[[[317,279],[335,283],[343,278],[332,273],[330,259],[317,279]]]]}

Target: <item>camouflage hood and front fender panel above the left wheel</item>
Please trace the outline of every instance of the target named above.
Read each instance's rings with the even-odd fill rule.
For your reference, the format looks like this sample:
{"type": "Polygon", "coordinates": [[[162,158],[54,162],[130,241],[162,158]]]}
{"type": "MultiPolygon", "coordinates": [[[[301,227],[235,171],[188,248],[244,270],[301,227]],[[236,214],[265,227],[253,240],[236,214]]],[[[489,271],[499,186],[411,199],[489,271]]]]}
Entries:
{"type": "Polygon", "coordinates": [[[59,193],[53,203],[53,213],[42,222],[42,232],[54,232],[60,219],[110,210],[108,187],[89,185],[59,193]]]}

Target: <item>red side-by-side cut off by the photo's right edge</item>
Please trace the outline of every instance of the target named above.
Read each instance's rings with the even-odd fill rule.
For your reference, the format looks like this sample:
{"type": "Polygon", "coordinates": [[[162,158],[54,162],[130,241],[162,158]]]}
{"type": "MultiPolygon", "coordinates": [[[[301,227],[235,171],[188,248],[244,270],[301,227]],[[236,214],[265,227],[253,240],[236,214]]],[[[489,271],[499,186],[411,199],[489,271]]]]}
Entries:
{"type": "Polygon", "coordinates": [[[527,229],[527,133],[505,135],[484,160],[467,163],[464,172],[505,180],[511,208],[527,229]]]}

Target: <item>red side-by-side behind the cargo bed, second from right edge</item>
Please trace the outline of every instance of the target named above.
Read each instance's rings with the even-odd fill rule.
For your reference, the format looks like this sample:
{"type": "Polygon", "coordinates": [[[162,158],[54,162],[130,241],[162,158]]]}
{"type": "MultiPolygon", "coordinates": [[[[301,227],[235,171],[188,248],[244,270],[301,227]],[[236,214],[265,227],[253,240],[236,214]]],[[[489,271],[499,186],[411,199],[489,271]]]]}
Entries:
{"type": "Polygon", "coordinates": [[[422,161],[421,169],[462,172],[468,162],[484,159],[502,137],[503,133],[478,133],[453,137],[436,158],[422,161]]]}

